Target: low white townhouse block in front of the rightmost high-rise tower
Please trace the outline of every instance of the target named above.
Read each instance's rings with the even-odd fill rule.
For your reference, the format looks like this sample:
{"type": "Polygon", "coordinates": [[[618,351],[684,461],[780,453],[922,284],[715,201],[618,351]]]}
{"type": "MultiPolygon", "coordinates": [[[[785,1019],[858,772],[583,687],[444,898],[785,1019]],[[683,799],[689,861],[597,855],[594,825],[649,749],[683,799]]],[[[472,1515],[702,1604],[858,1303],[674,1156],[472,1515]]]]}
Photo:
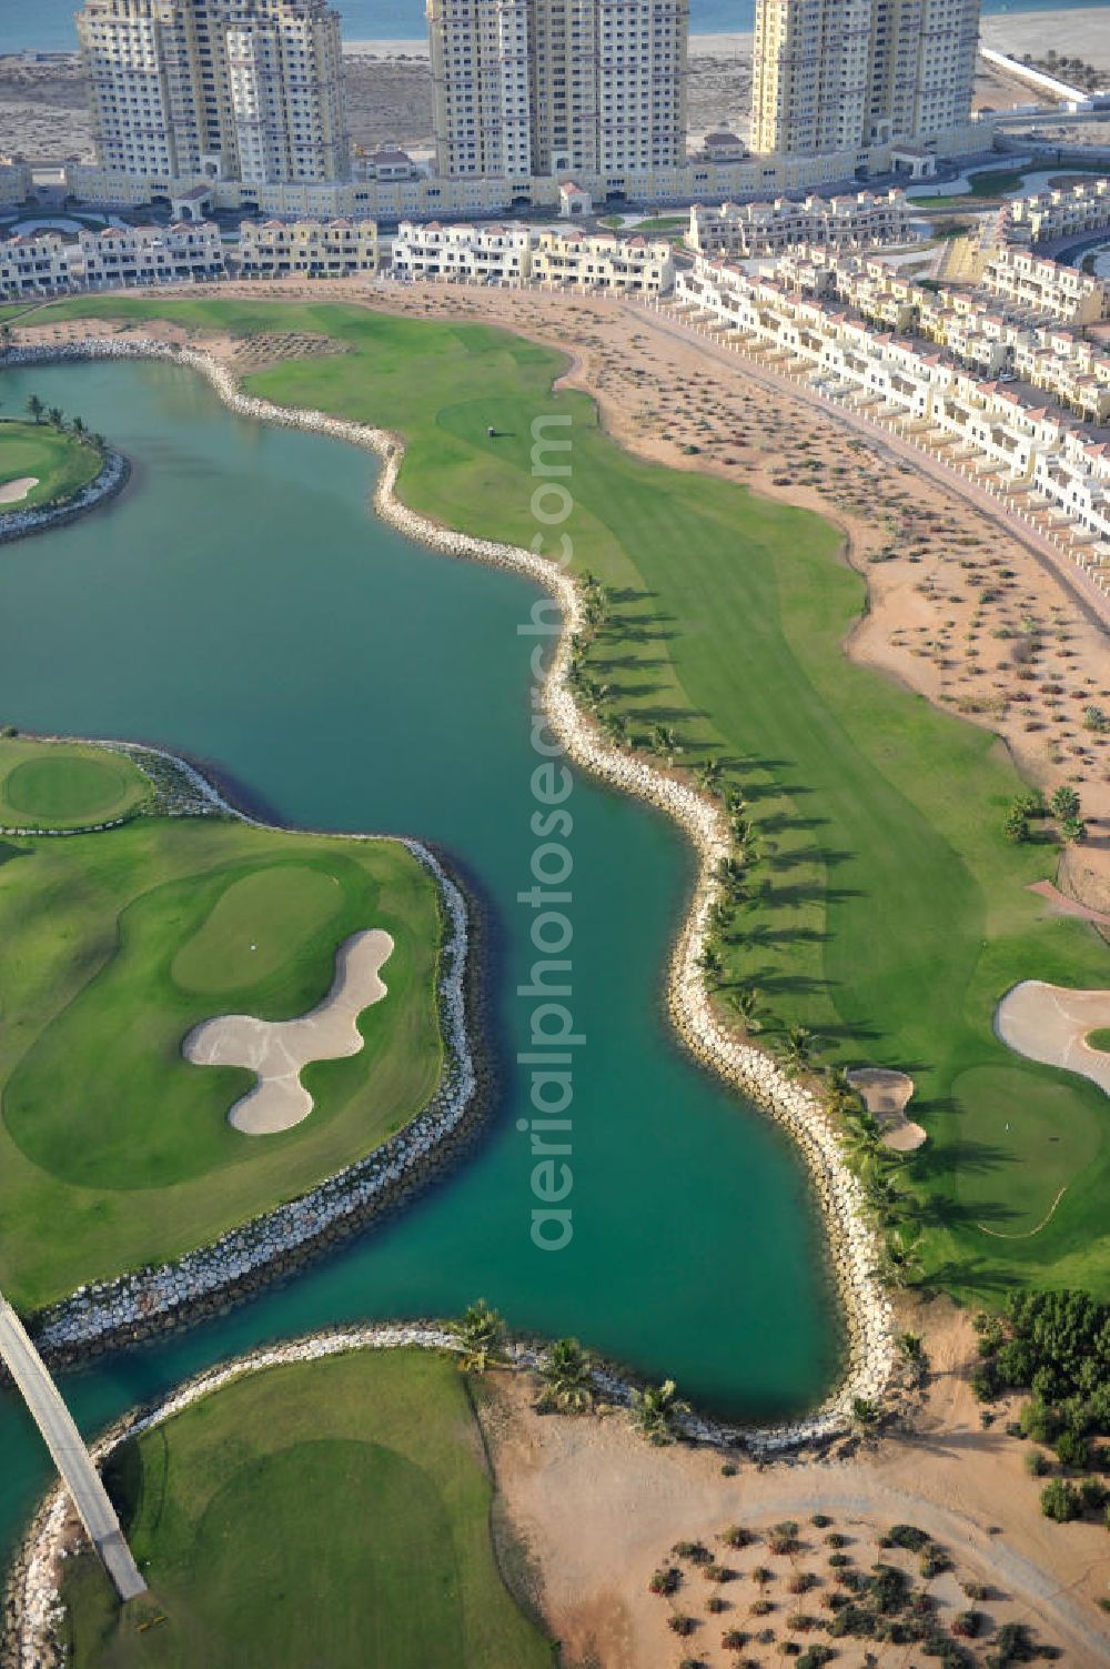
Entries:
{"type": "Polygon", "coordinates": [[[796,244],[830,249],[875,249],[910,240],[905,192],[858,192],[851,197],[806,197],[791,202],[694,204],[688,249],[699,255],[778,255],[796,244]]]}

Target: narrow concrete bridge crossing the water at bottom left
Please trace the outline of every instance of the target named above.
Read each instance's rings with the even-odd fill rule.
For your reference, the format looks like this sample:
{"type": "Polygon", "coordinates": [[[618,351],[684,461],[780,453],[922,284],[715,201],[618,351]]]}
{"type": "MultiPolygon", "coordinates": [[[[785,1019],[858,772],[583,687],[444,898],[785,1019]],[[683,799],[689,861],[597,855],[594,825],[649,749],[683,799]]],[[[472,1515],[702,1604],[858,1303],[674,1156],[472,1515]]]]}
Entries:
{"type": "Polygon", "coordinates": [[[124,1601],[145,1594],[147,1584],[124,1540],[115,1507],[108,1500],[108,1492],[88,1457],[73,1417],[30,1342],[27,1329],[3,1295],[0,1295],[0,1359],[45,1439],[88,1540],[97,1549],[117,1594],[124,1601]]]}

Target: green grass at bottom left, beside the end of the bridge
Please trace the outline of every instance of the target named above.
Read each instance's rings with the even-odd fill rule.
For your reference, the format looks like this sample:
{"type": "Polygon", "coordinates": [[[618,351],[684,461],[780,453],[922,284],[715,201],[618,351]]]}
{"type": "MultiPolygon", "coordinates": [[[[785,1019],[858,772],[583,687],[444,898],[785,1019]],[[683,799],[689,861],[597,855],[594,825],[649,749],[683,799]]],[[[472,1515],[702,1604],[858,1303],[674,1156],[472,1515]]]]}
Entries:
{"type": "Polygon", "coordinates": [[[67,1564],[78,1669],[554,1662],[501,1579],[482,1439],[447,1357],[255,1374],[127,1444],[107,1477],[150,1594],[120,1612],[92,1556],[67,1564]]]}

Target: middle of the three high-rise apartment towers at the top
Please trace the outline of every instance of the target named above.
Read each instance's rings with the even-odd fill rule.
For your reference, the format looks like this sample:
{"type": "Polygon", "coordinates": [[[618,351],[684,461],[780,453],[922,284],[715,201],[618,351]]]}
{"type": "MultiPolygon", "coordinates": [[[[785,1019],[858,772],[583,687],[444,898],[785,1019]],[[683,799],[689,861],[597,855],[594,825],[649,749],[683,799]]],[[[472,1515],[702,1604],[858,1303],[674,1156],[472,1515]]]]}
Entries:
{"type": "Polygon", "coordinates": [[[527,190],[529,175],[681,165],[688,7],[427,0],[437,174],[527,190]]]}

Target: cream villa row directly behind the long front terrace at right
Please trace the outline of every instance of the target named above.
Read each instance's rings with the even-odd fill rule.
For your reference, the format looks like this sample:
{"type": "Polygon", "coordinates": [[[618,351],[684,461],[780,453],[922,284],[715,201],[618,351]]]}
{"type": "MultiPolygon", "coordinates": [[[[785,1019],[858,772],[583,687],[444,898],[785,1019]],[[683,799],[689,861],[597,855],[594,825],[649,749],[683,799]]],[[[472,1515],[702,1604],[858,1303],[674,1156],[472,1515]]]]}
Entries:
{"type": "Polygon", "coordinates": [[[1008,314],[990,295],[936,290],[881,260],[798,250],[774,272],[793,295],[841,302],[868,325],[946,349],[978,376],[1022,381],[1088,422],[1110,419],[1110,355],[1063,324],[1008,314]]]}

